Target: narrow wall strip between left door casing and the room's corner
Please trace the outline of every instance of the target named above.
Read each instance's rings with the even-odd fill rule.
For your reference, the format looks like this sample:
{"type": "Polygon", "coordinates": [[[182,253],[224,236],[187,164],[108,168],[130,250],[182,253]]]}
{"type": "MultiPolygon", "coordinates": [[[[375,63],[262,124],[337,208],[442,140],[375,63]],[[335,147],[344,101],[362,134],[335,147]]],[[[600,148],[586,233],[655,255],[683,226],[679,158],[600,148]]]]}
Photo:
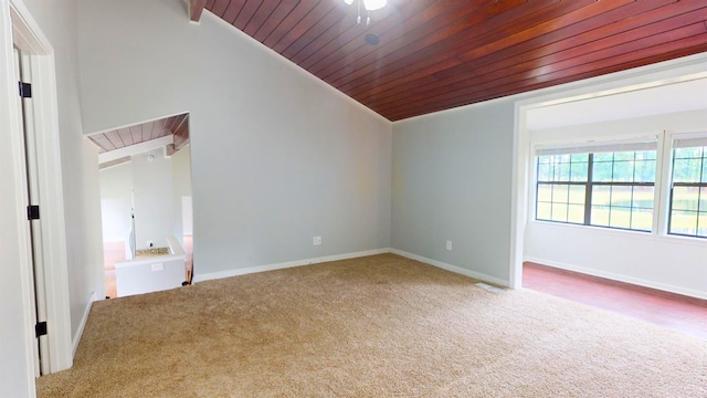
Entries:
{"type": "Polygon", "coordinates": [[[97,149],[83,136],[78,93],[76,1],[24,1],[56,62],[71,331],[74,341],[94,297],[105,296],[97,149]]]}

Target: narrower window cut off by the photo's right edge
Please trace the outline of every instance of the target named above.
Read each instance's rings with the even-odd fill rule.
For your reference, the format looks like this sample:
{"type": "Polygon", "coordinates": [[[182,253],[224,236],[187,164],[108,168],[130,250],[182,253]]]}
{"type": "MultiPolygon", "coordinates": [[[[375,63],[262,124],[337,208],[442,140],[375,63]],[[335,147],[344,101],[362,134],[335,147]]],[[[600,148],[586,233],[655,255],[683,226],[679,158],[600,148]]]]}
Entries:
{"type": "Polygon", "coordinates": [[[668,233],[707,238],[707,139],[676,139],[668,233]]]}

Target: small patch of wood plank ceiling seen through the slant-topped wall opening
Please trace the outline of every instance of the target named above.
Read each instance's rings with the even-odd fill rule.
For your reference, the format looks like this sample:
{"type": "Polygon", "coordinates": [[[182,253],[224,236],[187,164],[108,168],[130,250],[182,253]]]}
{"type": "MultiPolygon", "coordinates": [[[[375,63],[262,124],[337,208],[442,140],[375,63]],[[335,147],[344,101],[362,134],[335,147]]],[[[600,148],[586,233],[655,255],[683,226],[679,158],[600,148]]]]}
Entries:
{"type": "Polygon", "coordinates": [[[98,147],[98,153],[125,148],[151,139],[175,135],[175,149],[189,143],[189,114],[165,117],[105,133],[93,134],[88,139],[98,147]]]}

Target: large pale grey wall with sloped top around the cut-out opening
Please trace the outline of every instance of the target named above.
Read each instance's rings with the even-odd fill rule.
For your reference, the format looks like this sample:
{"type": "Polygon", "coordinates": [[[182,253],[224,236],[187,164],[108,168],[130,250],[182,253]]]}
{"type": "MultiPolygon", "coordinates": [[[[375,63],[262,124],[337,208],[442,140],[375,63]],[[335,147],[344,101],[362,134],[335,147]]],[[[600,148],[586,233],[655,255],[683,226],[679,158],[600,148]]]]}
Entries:
{"type": "Polygon", "coordinates": [[[388,121],[181,1],[78,24],[87,132],[190,112],[198,273],[390,247],[388,121]]]}

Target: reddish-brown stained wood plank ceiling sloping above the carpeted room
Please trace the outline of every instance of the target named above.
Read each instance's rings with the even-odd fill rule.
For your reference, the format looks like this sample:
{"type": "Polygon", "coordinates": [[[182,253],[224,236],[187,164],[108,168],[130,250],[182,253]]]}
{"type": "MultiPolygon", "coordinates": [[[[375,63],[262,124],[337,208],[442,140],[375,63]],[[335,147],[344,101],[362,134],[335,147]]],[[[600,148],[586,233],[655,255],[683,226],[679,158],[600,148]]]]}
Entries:
{"type": "Polygon", "coordinates": [[[356,1],[205,9],[390,121],[707,51],[704,0],[389,0],[370,25],[356,1]]]}

